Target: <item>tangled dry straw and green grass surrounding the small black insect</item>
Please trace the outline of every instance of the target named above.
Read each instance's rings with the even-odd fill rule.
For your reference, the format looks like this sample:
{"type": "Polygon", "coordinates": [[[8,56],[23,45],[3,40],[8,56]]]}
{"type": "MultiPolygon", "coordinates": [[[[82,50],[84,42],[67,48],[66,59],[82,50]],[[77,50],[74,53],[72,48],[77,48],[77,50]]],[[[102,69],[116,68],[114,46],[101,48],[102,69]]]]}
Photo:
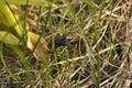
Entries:
{"type": "Polygon", "coordinates": [[[45,63],[24,47],[4,45],[1,88],[131,88],[132,1],[56,0],[55,4],[58,8],[51,12],[28,7],[34,19],[26,20],[26,29],[38,34],[44,30],[47,42],[53,35],[65,35],[72,48],[57,48],[45,63]]]}

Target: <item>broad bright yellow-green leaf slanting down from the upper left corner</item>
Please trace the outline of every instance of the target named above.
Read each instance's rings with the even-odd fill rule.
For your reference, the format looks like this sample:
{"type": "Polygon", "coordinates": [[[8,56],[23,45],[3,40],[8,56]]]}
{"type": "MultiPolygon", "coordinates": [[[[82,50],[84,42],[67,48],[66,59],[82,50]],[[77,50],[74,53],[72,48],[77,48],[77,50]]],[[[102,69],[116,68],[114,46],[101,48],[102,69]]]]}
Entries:
{"type": "Polygon", "coordinates": [[[3,0],[0,1],[0,23],[4,24],[7,28],[14,29],[11,31],[11,33],[14,33],[16,37],[21,37],[23,34],[22,26],[19,24],[6,2],[3,0]]]}

